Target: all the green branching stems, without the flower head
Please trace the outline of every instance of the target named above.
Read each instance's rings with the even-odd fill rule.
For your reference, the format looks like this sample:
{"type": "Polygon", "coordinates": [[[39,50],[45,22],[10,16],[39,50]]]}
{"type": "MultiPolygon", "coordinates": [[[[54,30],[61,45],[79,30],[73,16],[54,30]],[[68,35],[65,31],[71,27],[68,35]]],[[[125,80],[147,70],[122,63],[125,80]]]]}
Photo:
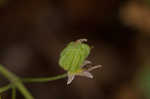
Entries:
{"type": "Polygon", "coordinates": [[[54,80],[67,77],[67,73],[65,73],[65,74],[54,76],[54,77],[24,78],[21,80],[19,77],[17,77],[12,72],[8,71],[2,65],[0,65],[0,73],[11,82],[9,85],[0,88],[0,93],[12,88],[12,95],[13,95],[12,97],[15,98],[16,97],[15,91],[17,88],[26,99],[34,99],[34,98],[30,94],[30,92],[27,90],[27,88],[23,85],[23,82],[25,83],[49,82],[49,81],[54,81],[54,80]]]}

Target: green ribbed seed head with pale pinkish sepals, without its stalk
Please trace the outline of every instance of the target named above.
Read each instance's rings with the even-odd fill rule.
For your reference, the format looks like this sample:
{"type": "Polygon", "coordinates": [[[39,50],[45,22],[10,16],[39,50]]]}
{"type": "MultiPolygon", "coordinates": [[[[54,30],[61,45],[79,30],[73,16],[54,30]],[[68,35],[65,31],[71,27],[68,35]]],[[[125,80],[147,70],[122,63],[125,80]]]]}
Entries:
{"type": "Polygon", "coordinates": [[[68,73],[67,84],[70,84],[75,76],[93,78],[90,71],[101,67],[101,65],[97,65],[88,69],[84,68],[87,64],[91,64],[90,61],[86,60],[91,47],[84,42],[87,42],[87,39],[70,42],[60,54],[59,65],[68,73]]]}

